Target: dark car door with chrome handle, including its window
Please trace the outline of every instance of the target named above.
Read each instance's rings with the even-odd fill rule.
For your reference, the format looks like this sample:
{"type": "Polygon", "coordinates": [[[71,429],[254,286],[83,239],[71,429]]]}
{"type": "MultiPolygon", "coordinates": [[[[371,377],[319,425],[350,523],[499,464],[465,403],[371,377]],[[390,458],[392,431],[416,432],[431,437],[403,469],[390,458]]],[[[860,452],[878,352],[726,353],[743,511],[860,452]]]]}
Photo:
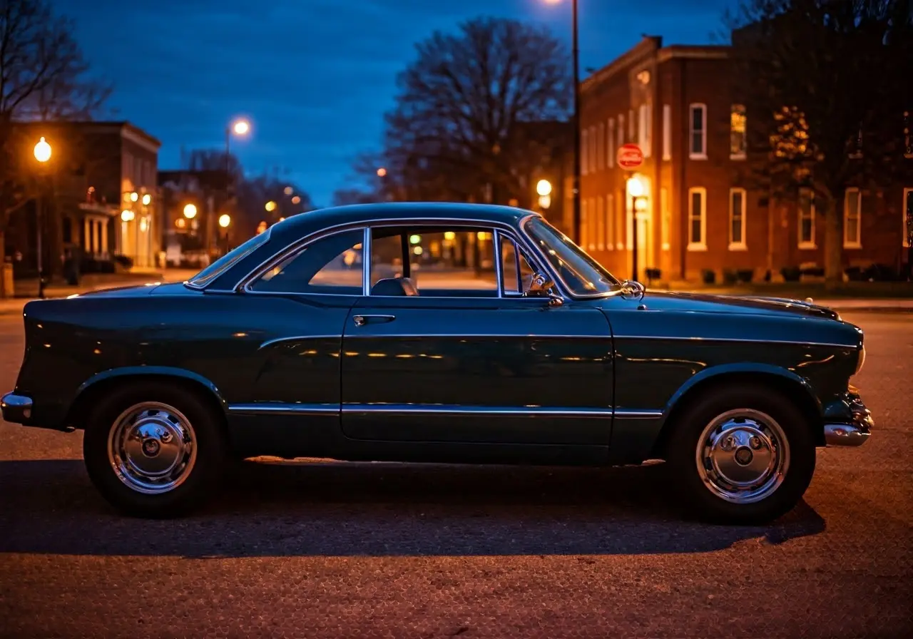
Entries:
{"type": "Polygon", "coordinates": [[[505,259],[517,246],[503,230],[375,227],[369,250],[371,294],[343,329],[345,435],[608,445],[608,322],[587,303],[523,297],[519,259],[505,259]],[[384,288],[397,278],[413,280],[417,295],[384,288]]]}

